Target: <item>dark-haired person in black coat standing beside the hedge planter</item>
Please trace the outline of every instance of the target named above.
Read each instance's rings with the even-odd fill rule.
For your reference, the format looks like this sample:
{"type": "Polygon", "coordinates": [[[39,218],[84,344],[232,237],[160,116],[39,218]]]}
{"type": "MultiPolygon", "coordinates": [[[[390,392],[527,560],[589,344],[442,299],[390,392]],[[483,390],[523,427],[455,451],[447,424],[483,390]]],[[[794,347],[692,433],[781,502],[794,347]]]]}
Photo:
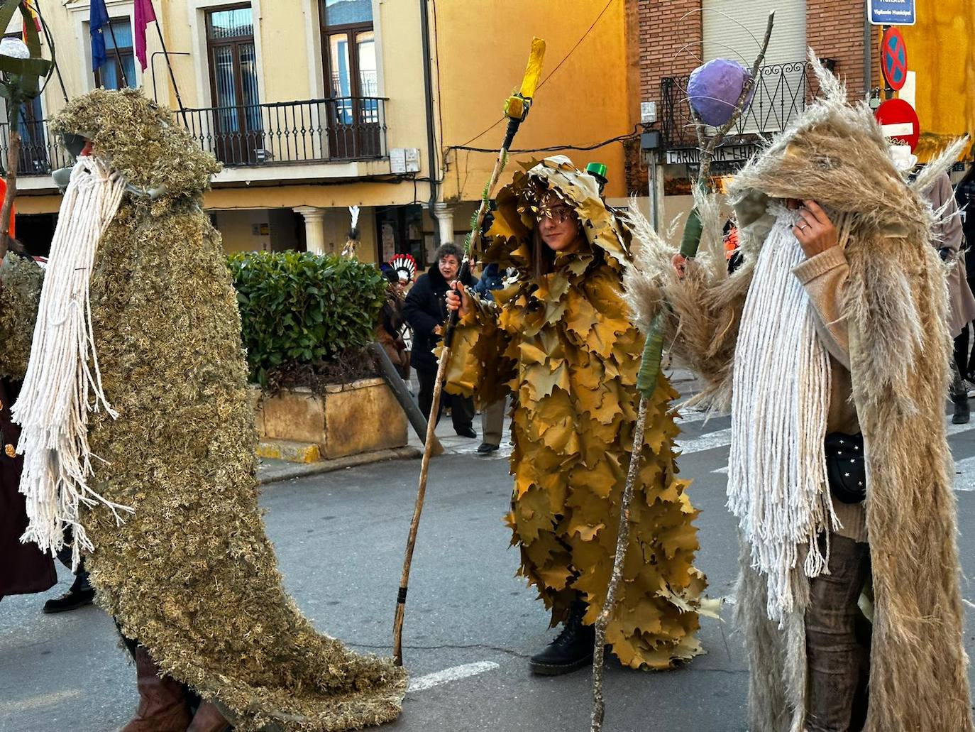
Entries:
{"type": "MultiPolygon", "coordinates": [[[[460,250],[453,244],[441,244],[434,255],[434,264],[426,274],[421,274],[407,294],[403,314],[413,329],[413,346],[410,365],[416,370],[420,383],[419,406],[427,419],[440,420],[440,414],[431,415],[433,388],[437,381],[437,357],[433,349],[440,342],[444,322],[447,320],[445,298],[449,282],[456,279],[460,269],[460,250]]],[[[475,279],[474,282],[477,280],[475,279]]],[[[473,283],[472,283],[473,284],[473,283]]],[[[444,397],[448,394],[445,393],[444,397]]],[[[441,401],[441,410],[444,403],[441,401]]],[[[459,396],[450,397],[450,416],[453,428],[463,437],[477,437],[474,422],[474,401],[459,396]]]]}

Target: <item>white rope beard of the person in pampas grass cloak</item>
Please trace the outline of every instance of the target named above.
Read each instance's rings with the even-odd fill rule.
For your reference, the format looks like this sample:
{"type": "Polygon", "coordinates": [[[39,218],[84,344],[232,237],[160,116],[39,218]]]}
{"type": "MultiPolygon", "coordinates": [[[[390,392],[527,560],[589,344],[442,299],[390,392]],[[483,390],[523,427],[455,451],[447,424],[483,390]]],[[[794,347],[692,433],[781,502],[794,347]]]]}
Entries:
{"type": "Polygon", "coordinates": [[[804,261],[792,232],[796,215],[776,221],[761,248],[735,347],[727,506],[767,583],[768,618],[780,626],[794,608],[802,571],[827,571],[817,537],[838,523],[827,487],[824,438],[830,360],[816,335],[812,305],[793,267],[804,261]]]}

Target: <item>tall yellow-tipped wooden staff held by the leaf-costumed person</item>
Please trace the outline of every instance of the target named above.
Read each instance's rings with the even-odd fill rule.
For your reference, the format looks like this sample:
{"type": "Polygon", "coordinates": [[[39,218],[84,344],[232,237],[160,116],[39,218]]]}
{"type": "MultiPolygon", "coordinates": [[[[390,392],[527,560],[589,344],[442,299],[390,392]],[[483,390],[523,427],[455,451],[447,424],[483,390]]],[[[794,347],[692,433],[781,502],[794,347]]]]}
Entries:
{"type": "MultiPolygon", "coordinates": [[[[535,89],[538,86],[538,78],[541,76],[542,60],[544,57],[545,41],[541,38],[532,38],[531,54],[528,57],[525,77],[522,79],[522,88],[504,103],[504,114],[508,118],[508,127],[504,135],[504,142],[501,143],[501,149],[498,150],[497,160],[494,162],[494,169],[491,171],[490,179],[488,179],[484,193],[481,196],[481,205],[478,207],[477,214],[471,220],[471,233],[468,234],[467,241],[464,243],[464,259],[460,264],[460,271],[457,275],[457,279],[460,282],[464,282],[469,278],[471,253],[480,242],[482,236],[481,229],[484,226],[490,200],[494,195],[494,188],[497,185],[498,179],[501,177],[501,171],[504,170],[504,166],[508,162],[508,150],[515,139],[515,135],[518,133],[518,128],[528,115],[528,109],[531,107],[531,100],[535,96],[535,89]]],[[[440,412],[440,397],[444,390],[444,379],[447,375],[448,363],[450,362],[453,331],[458,319],[457,312],[451,312],[444,329],[444,347],[440,353],[440,362],[437,364],[437,381],[434,382],[433,403],[430,407],[430,417],[427,421],[423,461],[420,464],[419,489],[416,492],[416,505],[413,508],[413,519],[409,523],[407,554],[403,560],[403,576],[400,579],[400,591],[396,597],[396,617],[393,620],[393,663],[397,666],[403,666],[403,618],[407,610],[409,565],[413,560],[413,549],[416,546],[416,531],[419,528],[420,513],[423,511],[427,472],[430,468],[431,446],[435,442],[434,429],[437,427],[436,415],[440,412]]]]}

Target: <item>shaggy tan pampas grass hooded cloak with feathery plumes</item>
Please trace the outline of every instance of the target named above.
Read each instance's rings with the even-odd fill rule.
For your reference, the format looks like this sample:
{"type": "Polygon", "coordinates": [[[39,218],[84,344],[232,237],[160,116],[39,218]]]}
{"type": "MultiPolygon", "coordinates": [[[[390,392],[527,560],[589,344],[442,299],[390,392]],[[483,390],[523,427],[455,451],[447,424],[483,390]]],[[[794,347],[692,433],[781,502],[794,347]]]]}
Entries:
{"type": "MultiPolygon", "coordinates": [[[[955,159],[958,142],[910,187],[894,169],[870,109],[815,63],[825,98],[753,159],[729,194],[738,213],[745,264],[724,269],[721,218],[700,201],[699,258],[678,281],[676,247],[640,221],[645,244],[628,272],[642,323],[666,301],[667,343],[707,382],[699,400],[729,403],[735,340],[755,254],[770,224],[768,198],[815,198],[849,226],[850,274],[843,303],[853,400],[867,446],[867,525],[874,572],[870,732],[973,729],[967,658],[961,644],[953,463],[944,399],[951,340],[945,268],[931,246],[935,214],[919,191],[955,159]]],[[[779,630],[764,615],[764,582],[743,548],[738,621],[752,667],[750,707],[757,732],[801,730],[805,633],[799,614],[779,630]]]]}

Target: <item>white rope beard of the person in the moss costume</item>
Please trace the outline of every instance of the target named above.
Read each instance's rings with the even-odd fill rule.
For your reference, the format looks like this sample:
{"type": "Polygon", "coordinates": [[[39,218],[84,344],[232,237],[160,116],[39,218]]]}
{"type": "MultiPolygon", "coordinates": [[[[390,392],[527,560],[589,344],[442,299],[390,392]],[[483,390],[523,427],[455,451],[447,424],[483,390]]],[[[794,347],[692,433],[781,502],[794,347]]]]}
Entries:
{"type": "Polygon", "coordinates": [[[106,501],[87,482],[95,472],[88,412],[103,406],[113,419],[118,417],[101,386],[89,285],[98,241],[124,191],[119,174],[94,157],[78,158],[51,243],[27,374],[11,409],[21,427],[20,493],[26,497],[29,519],[20,541],[56,553],[64,545],[65,526],[70,526],[73,569],[81,549],[94,550],[79,522],[80,504],[104,504],[118,521],[119,510],[132,511],[106,501]]]}

